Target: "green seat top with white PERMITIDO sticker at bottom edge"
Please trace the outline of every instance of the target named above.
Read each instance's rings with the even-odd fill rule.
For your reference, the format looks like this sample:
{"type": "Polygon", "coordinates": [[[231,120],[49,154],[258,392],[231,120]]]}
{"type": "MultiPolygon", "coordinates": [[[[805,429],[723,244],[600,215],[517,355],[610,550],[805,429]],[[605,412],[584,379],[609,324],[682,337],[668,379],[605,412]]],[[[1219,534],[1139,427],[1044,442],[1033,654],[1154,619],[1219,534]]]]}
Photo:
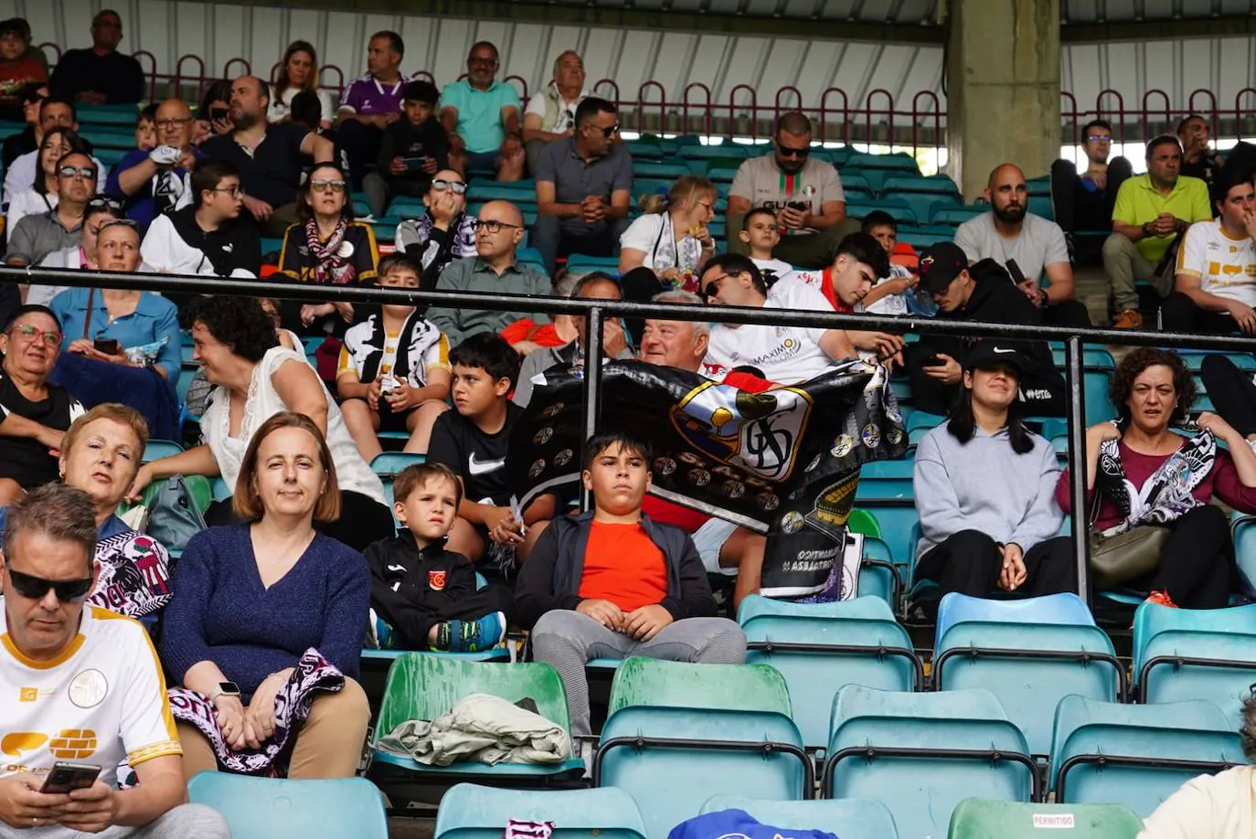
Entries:
{"type": "Polygon", "coordinates": [[[947,839],[1134,839],[1143,821],[1119,804],[1022,804],[965,799],[951,814],[947,839]]]}

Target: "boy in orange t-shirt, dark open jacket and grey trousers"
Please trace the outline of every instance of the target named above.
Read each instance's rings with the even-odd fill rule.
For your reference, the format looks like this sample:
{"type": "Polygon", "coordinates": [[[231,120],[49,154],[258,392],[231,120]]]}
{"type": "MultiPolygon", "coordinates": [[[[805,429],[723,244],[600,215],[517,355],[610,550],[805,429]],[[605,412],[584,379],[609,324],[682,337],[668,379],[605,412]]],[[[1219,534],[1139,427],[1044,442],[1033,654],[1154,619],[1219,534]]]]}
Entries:
{"type": "Polygon", "coordinates": [[[746,658],[741,627],[715,617],[693,540],[641,511],[651,460],[649,446],[628,435],[590,438],[583,479],[593,511],[554,519],[519,573],[515,617],[531,629],[534,659],[563,678],[577,737],[592,733],[584,676],[592,658],[746,658]]]}

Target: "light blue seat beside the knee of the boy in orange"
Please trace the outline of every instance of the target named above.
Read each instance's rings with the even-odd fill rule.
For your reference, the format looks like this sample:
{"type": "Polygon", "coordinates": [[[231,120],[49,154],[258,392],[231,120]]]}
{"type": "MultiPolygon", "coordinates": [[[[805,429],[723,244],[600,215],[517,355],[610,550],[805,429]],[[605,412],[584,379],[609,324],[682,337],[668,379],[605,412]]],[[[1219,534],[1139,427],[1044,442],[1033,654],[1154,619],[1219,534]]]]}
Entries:
{"type": "Polygon", "coordinates": [[[922,687],[924,668],[911,636],[880,598],[808,604],[751,594],[737,623],[746,633],[746,663],[770,664],[785,677],[809,749],[828,744],[833,697],[842,687],[922,687]]]}

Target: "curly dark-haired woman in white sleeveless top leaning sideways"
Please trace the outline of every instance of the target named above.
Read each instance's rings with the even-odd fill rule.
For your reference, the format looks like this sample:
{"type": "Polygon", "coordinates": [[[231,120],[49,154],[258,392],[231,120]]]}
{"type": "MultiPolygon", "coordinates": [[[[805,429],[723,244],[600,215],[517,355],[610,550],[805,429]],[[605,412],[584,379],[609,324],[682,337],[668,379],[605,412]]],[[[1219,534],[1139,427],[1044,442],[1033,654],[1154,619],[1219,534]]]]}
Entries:
{"type": "MultiPolygon", "coordinates": [[[[217,386],[201,416],[205,442],[144,463],[131,497],[171,475],[221,476],[227,486],[244,491],[245,484],[237,480],[244,447],[271,416],[293,411],[310,417],[319,431],[328,430],[335,461],[342,515],[320,524],[319,530],[357,550],[391,534],[393,521],[383,484],[358,453],[340,408],[305,355],[279,343],[261,306],[242,298],[198,298],[182,314],[191,324],[192,360],[200,362],[205,377],[217,386]],[[240,413],[232,403],[242,406],[240,413]]],[[[215,502],[205,520],[210,525],[235,522],[231,505],[215,502]]]]}

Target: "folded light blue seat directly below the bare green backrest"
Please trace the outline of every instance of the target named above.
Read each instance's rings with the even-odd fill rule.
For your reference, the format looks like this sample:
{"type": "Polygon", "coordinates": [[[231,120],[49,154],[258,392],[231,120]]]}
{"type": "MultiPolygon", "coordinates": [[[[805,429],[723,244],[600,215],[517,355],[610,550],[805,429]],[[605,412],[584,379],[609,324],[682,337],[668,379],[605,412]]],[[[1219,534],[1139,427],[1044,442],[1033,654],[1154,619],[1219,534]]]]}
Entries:
{"type": "Polygon", "coordinates": [[[637,801],[648,839],[666,839],[711,790],[789,801],[814,784],[798,727],[774,711],[624,707],[607,718],[593,766],[594,786],[637,801]]]}

